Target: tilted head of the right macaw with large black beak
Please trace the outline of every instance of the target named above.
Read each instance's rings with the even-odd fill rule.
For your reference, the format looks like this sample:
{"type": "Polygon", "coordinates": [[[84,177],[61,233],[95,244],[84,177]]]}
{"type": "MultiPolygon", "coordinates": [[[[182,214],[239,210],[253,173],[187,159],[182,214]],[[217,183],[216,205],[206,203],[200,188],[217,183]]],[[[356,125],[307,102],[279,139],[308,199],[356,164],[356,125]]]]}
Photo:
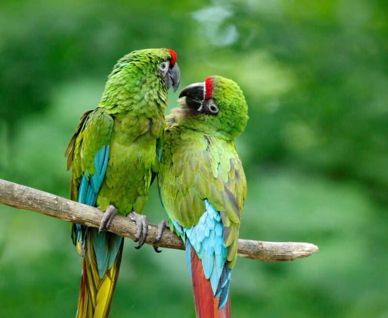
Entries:
{"type": "Polygon", "coordinates": [[[248,106],[239,85],[231,79],[210,76],[185,87],[179,94],[179,125],[226,140],[234,140],[245,129],[248,106]]]}

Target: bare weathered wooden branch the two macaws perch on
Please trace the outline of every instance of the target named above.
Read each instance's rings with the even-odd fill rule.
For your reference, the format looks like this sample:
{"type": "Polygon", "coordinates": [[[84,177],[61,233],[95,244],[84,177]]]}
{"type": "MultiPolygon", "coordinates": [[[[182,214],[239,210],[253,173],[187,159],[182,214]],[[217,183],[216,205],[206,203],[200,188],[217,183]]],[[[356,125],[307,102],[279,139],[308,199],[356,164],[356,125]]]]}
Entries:
{"type": "MultiPolygon", "coordinates": [[[[26,209],[72,223],[98,227],[102,212],[96,207],[67,200],[60,196],[25,187],[0,179],[0,203],[26,209]]],[[[116,215],[109,228],[110,232],[134,239],[136,224],[129,218],[116,215]]],[[[155,240],[158,228],[149,225],[146,243],[155,240]]],[[[184,250],[184,244],[175,234],[166,230],[162,239],[156,244],[160,247],[184,250]]],[[[238,255],[261,261],[290,261],[307,257],[318,251],[318,247],[310,243],[295,242],[264,242],[250,239],[239,239],[238,255]]]]}

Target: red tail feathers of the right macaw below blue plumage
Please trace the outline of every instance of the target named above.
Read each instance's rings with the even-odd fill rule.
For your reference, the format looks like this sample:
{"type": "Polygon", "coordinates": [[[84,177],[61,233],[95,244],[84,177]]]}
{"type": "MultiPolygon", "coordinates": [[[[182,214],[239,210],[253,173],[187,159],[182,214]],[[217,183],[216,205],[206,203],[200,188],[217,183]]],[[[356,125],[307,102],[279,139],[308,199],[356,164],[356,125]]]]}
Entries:
{"type": "Polygon", "coordinates": [[[205,278],[202,262],[191,247],[191,276],[193,282],[195,313],[197,318],[230,318],[230,297],[224,308],[218,309],[220,298],[214,298],[210,280],[205,278]]]}

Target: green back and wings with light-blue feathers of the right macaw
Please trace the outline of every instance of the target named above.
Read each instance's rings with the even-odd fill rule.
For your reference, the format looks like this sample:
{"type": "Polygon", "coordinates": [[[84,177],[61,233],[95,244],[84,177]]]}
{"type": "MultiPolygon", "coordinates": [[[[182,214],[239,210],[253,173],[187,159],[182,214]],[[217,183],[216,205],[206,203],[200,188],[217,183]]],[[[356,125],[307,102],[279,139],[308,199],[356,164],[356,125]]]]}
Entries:
{"type": "MultiPolygon", "coordinates": [[[[171,225],[187,238],[186,251],[194,248],[213,295],[220,297],[218,308],[224,308],[246,196],[245,175],[233,142],[168,127],[159,187],[171,225]]],[[[191,259],[188,255],[193,276],[191,259]]]]}

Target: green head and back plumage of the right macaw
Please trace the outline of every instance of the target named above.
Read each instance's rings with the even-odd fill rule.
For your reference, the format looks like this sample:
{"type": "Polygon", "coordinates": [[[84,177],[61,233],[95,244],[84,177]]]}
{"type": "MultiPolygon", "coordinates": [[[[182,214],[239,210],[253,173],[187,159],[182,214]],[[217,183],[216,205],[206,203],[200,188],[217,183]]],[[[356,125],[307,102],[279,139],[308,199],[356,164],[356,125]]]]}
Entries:
{"type": "Polygon", "coordinates": [[[180,100],[181,107],[167,117],[158,182],[170,221],[187,228],[198,224],[206,209],[205,199],[221,212],[226,259],[233,268],[246,196],[234,138],[246,125],[247,106],[235,82],[213,79],[213,98],[219,107],[216,116],[190,111],[180,100]]]}

